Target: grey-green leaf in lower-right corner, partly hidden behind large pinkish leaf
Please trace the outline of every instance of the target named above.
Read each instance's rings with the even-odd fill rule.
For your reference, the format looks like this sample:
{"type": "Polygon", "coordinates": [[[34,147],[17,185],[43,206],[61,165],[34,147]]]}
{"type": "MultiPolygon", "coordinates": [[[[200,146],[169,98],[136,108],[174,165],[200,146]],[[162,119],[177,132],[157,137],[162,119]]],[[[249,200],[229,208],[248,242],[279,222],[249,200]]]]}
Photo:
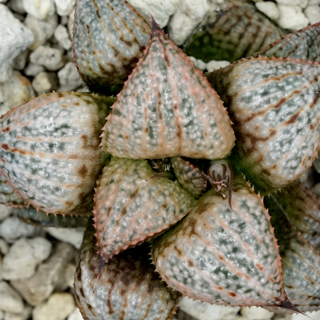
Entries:
{"type": "Polygon", "coordinates": [[[319,252],[293,226],[273,195],[265,203],[280,246],[287,297],[302,312],[320,310],[319,252]]]}

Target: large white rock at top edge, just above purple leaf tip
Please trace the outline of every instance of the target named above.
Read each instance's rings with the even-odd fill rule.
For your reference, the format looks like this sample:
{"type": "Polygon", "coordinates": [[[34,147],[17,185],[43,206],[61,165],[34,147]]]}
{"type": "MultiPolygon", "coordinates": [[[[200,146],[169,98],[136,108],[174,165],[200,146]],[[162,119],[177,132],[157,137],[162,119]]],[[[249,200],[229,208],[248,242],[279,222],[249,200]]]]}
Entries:
{"type": "Polygon", "coordinates": [[[177,10],[179,0],[129,0],[132,6],[148,21],[149,11],[160,25],[164,28],[168,24],[169,17],[177,10]]]}

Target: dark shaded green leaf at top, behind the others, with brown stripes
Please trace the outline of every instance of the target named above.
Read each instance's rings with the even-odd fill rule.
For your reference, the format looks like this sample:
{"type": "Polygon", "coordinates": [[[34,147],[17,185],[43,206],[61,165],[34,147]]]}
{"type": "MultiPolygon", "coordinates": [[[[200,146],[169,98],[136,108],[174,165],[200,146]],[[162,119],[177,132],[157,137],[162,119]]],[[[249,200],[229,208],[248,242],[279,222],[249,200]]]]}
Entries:
{"type": "Polygon", "coordinates": [[[205,62],[233,62],[251,56],[281,36],[279,28],[254,5],[224,1],[195,29],[183,51],[205,62]]]}

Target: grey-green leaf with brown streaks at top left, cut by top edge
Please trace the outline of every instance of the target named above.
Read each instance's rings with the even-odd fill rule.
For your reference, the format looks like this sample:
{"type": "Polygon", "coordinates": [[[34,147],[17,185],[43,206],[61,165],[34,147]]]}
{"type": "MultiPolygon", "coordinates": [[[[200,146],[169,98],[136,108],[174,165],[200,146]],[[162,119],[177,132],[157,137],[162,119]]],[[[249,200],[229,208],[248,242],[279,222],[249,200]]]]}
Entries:
{"type": "Polygon", "coordinates": [[[76,1],[74,59],[92,92],[118,93],[149,38],[148,23],[126,1],[76,1]]]}

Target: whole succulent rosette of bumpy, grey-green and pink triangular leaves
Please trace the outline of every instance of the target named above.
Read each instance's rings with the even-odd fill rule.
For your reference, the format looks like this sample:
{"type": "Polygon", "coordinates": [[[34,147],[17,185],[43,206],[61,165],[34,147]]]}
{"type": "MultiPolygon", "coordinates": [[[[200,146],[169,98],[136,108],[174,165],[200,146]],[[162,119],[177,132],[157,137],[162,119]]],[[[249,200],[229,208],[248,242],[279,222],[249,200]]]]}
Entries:
{"type": "MultiPolygon", "coordinates": [[[[225,30],[235,8],[255,17],[223,8],[225,30]]],[[[0,117],[0,201],[30,219],[93,212],[75,275],[84,319],[170,319],[182,295],[320,308],[319,200],[288,186],[320,148],[320,65],[259,55],[292,55],[299,37],[316,52],[318,34],[254,39],[255,58],[205,77],[126,1],[77,1],[75,62],[100,94],[52,92],[0,117]]]]}

